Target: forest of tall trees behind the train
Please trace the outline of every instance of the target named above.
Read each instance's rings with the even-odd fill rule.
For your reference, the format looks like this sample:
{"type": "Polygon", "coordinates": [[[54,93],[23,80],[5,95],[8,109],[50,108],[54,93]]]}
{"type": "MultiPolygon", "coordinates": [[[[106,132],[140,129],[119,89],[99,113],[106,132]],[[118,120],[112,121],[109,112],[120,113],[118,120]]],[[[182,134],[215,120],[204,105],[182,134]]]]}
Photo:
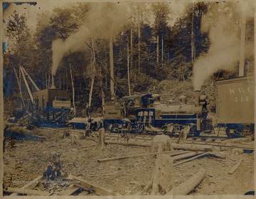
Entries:
{"type": "MultiPolygon", "coordinates": [[[[89,102],[94,81],[92,109],[100,112],[102,103],[111,99],[110,45],[113,49],[114,95],[123,97],[137,92],[161,92],[157,89],[166,80],[187,85],[193,76],[195,60],[208,53],[210,47],[209,33],[201,31],[201,21],[204,15],[210,14],[213,6],[216,3],[187,4],[183,14],[171,26],[169,22],[173,20],[174,10],[169,3],[127,4],[127,21],[112,35],[112,43],[109,38],[90,38],[83,41],[80,50],[65,53],[55,75],[55,87],[71,92],[74,88],[75,106],[79,111],[89,102]]],[[[77,3],[56,8],[50,17],[49,13],[43,12],[38,15],[33,30],[28,27],[25,14],[13,12],[4,30],[11,41],[4,52],[4,97],[7,104],[20,95],[19,66],[26,69],[40,89],[50,87],[53,41],[58,38],[65,41],[78,31],[92,7],[92,3],[77,3]]],[[[228,3],[218,5],[223,15],[232,14],[231,7],[228,3]]],[[[247,18],[247,41],[253,40],[253,26],[253,19],[247,18]]],[[[246,57],[247,65],[253,62],[252,57],[246,57]]],[[[236,73],[218,70],[211,80],[235,77],[236,73]]],[[[26,90],[24,85],[22,87],[26,90]]],[[[23,95],[29,100],[26,92],[23,95]]]]}

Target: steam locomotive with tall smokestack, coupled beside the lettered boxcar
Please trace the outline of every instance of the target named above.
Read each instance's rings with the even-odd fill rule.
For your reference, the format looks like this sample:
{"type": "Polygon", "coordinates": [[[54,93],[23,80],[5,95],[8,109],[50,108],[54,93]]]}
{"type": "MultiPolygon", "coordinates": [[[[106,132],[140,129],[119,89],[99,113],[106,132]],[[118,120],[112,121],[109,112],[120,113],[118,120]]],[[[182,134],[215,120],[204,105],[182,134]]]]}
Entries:
{"type": "Polygon", "coordinates": [[[132,123],[132,132],[162,132],[179,134],[185,127],[191,135],[212,129],[212,120],[207,119],[207,97],[195,92],[195,103],[187,104],[186,96],[179,97],[179,104],[162,104],[160,95],[145,94],[122,97],[105,104],[103,126],[118,131],[124,121],[132,123]]]}

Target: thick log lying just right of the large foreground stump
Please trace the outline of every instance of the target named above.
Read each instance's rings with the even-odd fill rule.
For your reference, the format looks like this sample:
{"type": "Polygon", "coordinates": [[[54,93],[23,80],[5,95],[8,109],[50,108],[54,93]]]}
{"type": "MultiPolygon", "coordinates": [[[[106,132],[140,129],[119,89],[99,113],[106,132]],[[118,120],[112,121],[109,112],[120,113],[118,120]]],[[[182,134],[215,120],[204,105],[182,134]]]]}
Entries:
{"type": "Polygon", "coordinates": [[[206,176],[206,170],[201,168],[192,178],[188,181],[181,183],[180,185],[173,188],[166,195],[188,195],[191,191],[196,188],[196,186],[203,181],[203,178],[206,176]]]}

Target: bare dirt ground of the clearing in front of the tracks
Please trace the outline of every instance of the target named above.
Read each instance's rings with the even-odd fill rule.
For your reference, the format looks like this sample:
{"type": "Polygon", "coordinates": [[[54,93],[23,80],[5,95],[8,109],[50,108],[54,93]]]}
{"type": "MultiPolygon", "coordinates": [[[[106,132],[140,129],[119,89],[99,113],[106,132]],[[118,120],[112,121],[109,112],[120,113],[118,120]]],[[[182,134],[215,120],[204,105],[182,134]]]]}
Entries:
{"type": "MultiPolygon", "coordinates": [[[[21,188],[28,181],[42,176],[53,154],[61,154],[60,182],[39,183],[34,190],[44,190],[59,195],[70,186],[68,175],[101,185],[121,195],[139,194],[150,181],[155,156],[127,158],[98,163],[97,159],[149,153],[149,147],[107,144],[102,151],[95,150],[92,139],[63,138],[63,130],[36,129],[36,136],[43,141],[15,140],[4,144],[4,187],[21,188]],[[81,149],[82,146],[89,146],[81,149]],[[80,149],[78,149],[80,147],[80,149]]],[[[232,154],[223,151],[227,158],[203,156],[174,167],[174,183],[191,178],[200,168],[206,169],[206,177],[189,195],[243,195],[254,190],[254,153],[232,154]],[[242,158],[242,164],[232,175],[230,168],[242,158]]],[[[181,160],[182,161],[182,160],[181,160]]],[[[6,193],[7,195],[8,193],[6,193]]]]}

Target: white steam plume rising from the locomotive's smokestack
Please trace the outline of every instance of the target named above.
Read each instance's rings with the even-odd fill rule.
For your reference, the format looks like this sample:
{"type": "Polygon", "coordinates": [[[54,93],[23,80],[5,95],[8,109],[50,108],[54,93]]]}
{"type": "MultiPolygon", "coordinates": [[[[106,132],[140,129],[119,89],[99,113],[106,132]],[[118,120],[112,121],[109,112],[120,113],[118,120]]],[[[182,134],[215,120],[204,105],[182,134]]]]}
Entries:
{"type": "MultiPolygon", "coordinates": [[[[235,24],[238,24],[242,12],[247,14],[247,19],[253,17],[253,5],[232,4],[231,13],[224,17],[219,17],[221,12],[226,11],[220,9],[220,6],[223,4],[213,6],[201,21],[201,31],[209,33],[210,48],[207,54],[201,55],[195,62],[193,68],[195,90],[200,90],[203,82],[213,75],[213,72],[220,69],[233,70],[234,63],[240,58],[240,28],[235,24]]],[[[247,55],[253,54],[252,46],[252,43],[247,43],[247,55]]]]}

